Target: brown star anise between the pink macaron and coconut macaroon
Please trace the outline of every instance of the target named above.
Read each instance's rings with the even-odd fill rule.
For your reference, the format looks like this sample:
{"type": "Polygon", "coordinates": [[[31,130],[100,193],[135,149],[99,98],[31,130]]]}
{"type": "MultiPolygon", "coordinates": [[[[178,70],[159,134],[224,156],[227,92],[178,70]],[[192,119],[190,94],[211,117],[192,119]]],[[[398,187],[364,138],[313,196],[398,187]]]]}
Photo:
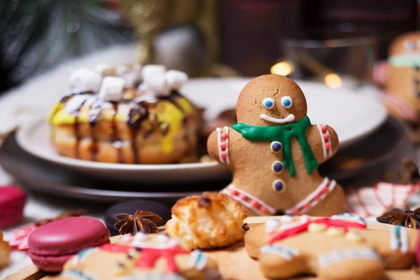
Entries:
{"type": "Polygon", "coordinates": [[[137,210],[134,215],[118,214],[116,216],[116,229],[121,235],[132,234],[137,232],[155,233],[158,232],[158,225],[163,219],[157,214],[150,211],[137,210]]]}

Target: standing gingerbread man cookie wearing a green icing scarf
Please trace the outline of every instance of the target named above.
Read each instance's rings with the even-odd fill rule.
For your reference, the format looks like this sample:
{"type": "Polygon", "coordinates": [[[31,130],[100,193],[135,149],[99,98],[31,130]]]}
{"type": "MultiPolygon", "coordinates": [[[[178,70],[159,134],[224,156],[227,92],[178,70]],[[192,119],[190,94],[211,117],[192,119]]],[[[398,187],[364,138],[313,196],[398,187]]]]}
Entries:
{"type": "Polygon", "coordinates": [[[251,216],[342,211],[342,188],[316,170],[337,151],[337,134],[328,125],[311,125],[306,99],[293,80],[253,78],[239,94],[237,119],[207,141],[211,158],[233,172],[223,193],[251,216]]]}

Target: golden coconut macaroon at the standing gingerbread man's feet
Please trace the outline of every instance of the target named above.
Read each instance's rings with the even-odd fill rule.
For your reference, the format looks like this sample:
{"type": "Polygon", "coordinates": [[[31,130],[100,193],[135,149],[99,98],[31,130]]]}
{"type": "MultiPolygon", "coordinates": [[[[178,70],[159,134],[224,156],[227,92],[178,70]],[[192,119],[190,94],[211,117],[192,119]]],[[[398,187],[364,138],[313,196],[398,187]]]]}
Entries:
{"type": "Polygon", "coordinates": [[[167,235],[178,238],[183,248],[219,248],[244,238],[247,211],[223,193],[185,197],[172,207],[167,235]]]}

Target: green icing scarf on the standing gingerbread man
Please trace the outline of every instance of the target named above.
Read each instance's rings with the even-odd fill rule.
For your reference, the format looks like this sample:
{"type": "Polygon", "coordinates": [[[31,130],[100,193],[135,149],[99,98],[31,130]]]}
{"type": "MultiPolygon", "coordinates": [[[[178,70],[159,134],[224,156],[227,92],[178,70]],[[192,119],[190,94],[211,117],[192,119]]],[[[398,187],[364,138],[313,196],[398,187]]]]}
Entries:
{"type": "Polygon", "coordinates": [[[310,126],[311,121],[306,116],[303,120],[288,125],[258,127],[237,123],[232,125],[232,128],[249,141],[279,141],[283,146],[283,167],[289,168],[290,176],[295,177],[296,170],[293,165],[291,150],[293,137],[297,138],[300,148],[302,148],[308,174],[311,174],[314,169],[318,168],[318,162],[316,162],[314,153],[312,153],[305,135],[307,128],[310,126]]]}

